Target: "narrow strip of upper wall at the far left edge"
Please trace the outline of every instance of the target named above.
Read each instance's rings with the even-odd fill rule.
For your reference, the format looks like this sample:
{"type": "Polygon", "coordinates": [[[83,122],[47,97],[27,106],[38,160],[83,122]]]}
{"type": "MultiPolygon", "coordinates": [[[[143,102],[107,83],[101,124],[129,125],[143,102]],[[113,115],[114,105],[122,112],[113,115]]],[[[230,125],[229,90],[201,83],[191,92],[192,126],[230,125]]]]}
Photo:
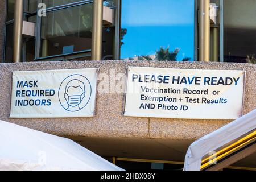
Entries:
{"type": "Polygon", "coordinates": [[[5,45],[5,17],[6,0],[0,0],[0,63],[3,61],[3,51],[5,45]]]}

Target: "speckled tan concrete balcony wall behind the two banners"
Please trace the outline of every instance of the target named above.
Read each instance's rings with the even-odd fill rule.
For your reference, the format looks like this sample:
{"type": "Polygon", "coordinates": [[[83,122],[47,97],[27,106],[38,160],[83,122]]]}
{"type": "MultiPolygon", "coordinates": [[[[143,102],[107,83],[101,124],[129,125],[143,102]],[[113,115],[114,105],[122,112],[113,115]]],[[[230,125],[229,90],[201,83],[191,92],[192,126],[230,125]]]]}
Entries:
{"type": "MultiPolygon", "coordinates": [[[[184,63],[175,61],[64,61],[0,64],[0,119],[47,133],[73,137],[145,138],[195,140],[231,122],[205,119],[160,119],[123,117],[124,94],[97,93],[93,118],[10,119],[11,72],[44,69],[100,68],[110,77],[126,73],[127,66],[236,69],[245,70],[245,103],[243,114],[256,108],[256,65],[237,63],[184,63]]],[[[109,85],[111,87],[111,84],[109,85]]]]}

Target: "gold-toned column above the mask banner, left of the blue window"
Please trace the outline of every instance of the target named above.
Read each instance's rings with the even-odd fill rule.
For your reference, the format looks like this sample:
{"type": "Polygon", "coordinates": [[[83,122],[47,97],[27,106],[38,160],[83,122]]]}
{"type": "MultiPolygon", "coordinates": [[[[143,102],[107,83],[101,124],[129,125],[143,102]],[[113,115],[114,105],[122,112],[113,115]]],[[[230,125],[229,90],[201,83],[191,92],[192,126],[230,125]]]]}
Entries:
{"type": "Polygon", "coordinates": [[[101,60],[103,1],[93,1],[92,60],[101,60]]]}

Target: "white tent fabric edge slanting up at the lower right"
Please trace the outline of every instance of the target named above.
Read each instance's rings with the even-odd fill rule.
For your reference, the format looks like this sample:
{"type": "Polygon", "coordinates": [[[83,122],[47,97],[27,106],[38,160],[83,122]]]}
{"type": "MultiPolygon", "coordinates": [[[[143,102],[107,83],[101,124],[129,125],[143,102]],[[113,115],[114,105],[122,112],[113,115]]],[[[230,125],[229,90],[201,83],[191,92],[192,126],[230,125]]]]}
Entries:
{"type": "Polygon", "coordinates": [[[189,146],[184,171],[200,171],[203,156],[256,128],[256,109],[236,121],[205,135],[189,146]]]}

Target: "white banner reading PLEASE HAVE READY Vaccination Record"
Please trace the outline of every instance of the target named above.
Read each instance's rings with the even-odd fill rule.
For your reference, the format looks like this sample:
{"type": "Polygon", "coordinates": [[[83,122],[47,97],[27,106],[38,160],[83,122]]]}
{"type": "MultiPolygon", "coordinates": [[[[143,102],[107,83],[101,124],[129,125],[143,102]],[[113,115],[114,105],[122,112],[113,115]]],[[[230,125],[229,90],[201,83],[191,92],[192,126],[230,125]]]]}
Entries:
{"type": "Polygon", "coordinates": [[[237,119],[245,71],[128,67],[125,116],[237,119]]]}

